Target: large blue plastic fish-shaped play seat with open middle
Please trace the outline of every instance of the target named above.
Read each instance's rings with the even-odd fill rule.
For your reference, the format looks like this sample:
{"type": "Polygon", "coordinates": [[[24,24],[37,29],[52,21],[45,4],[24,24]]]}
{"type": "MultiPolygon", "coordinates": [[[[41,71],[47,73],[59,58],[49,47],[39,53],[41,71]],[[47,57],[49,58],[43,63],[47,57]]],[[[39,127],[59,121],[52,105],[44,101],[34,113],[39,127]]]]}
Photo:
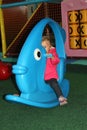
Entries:
{"type": "Polygon", "coordinates": [[[65,60],[65,31],[50,18],[44,18],[33,28],[28,35],[16,65],[13,65],[13,73],[20,95],[6,95],[6,100],[23,103],[26,105],[51,108],[59,105],[58,99],[49,85],[44,82],[44,70],[46,64],[46,52],[41,45],[42,35],[46,25],[52,28],[55,36],[56,50],[60,58],[57,67],[59,84],[65,97],[69,93],[69,81],[64,79],[66,71],[65,60]]]}

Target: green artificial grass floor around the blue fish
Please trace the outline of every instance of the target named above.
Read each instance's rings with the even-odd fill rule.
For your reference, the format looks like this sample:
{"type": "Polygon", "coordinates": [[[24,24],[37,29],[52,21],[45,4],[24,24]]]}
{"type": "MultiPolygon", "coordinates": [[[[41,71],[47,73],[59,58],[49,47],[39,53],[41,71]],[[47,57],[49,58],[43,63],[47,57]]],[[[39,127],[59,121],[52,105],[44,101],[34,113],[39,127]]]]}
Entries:
{"type": "Polygon", "coordinates": [[[15,80],[0,81],[0,130],[87,130],[87,66],[67,65],[68,104],[49,109],[7,102],[15,80]]]}

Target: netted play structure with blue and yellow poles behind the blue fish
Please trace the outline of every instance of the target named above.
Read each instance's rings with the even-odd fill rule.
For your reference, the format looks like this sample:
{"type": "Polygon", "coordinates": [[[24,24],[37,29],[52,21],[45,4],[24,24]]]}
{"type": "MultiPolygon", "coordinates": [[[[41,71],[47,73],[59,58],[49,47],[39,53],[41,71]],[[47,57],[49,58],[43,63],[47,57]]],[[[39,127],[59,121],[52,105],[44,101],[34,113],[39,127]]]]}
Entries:
{"type": "Polygon", "coordinates": [[[1,0],[1,60],[17,61],[27,35],[42,18],[50,17],[61,24],[60,2],[61,0],[1,0]]]}

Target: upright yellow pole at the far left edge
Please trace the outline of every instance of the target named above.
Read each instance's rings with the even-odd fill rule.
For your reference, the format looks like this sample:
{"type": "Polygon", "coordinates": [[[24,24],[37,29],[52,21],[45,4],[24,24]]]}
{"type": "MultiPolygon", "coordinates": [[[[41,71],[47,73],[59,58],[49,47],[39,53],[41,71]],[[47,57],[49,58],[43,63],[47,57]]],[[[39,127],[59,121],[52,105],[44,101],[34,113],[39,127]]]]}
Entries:
{"type": "MultiPolygon", "coordinates": [[[[2,5],[2,0],[0,1],[0,5],[2,5]]],[[[2,41],[2,55],[3,58],[6,58],[6,36],[5,36],[5,27],[4,27],[4,18],[3,11],[0,8],[0,31],[1,31],[1,41],[2,41]]]]}

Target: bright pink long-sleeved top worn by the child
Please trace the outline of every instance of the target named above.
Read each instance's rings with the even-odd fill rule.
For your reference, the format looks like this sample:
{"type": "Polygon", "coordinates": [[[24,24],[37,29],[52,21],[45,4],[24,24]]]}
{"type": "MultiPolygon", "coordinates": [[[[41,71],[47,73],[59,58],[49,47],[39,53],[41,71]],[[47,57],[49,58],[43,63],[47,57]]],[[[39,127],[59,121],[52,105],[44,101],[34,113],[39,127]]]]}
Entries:
{"type": "Polygon", "coordinates": [[[49,53],[52,54],[54,58],[47,58],[46,60],[44,80],[49,80],[51,78],[58,79],[57,64],[60,62],[60,59],[56,53],[56,48],[52,47],[49,53]]]}

